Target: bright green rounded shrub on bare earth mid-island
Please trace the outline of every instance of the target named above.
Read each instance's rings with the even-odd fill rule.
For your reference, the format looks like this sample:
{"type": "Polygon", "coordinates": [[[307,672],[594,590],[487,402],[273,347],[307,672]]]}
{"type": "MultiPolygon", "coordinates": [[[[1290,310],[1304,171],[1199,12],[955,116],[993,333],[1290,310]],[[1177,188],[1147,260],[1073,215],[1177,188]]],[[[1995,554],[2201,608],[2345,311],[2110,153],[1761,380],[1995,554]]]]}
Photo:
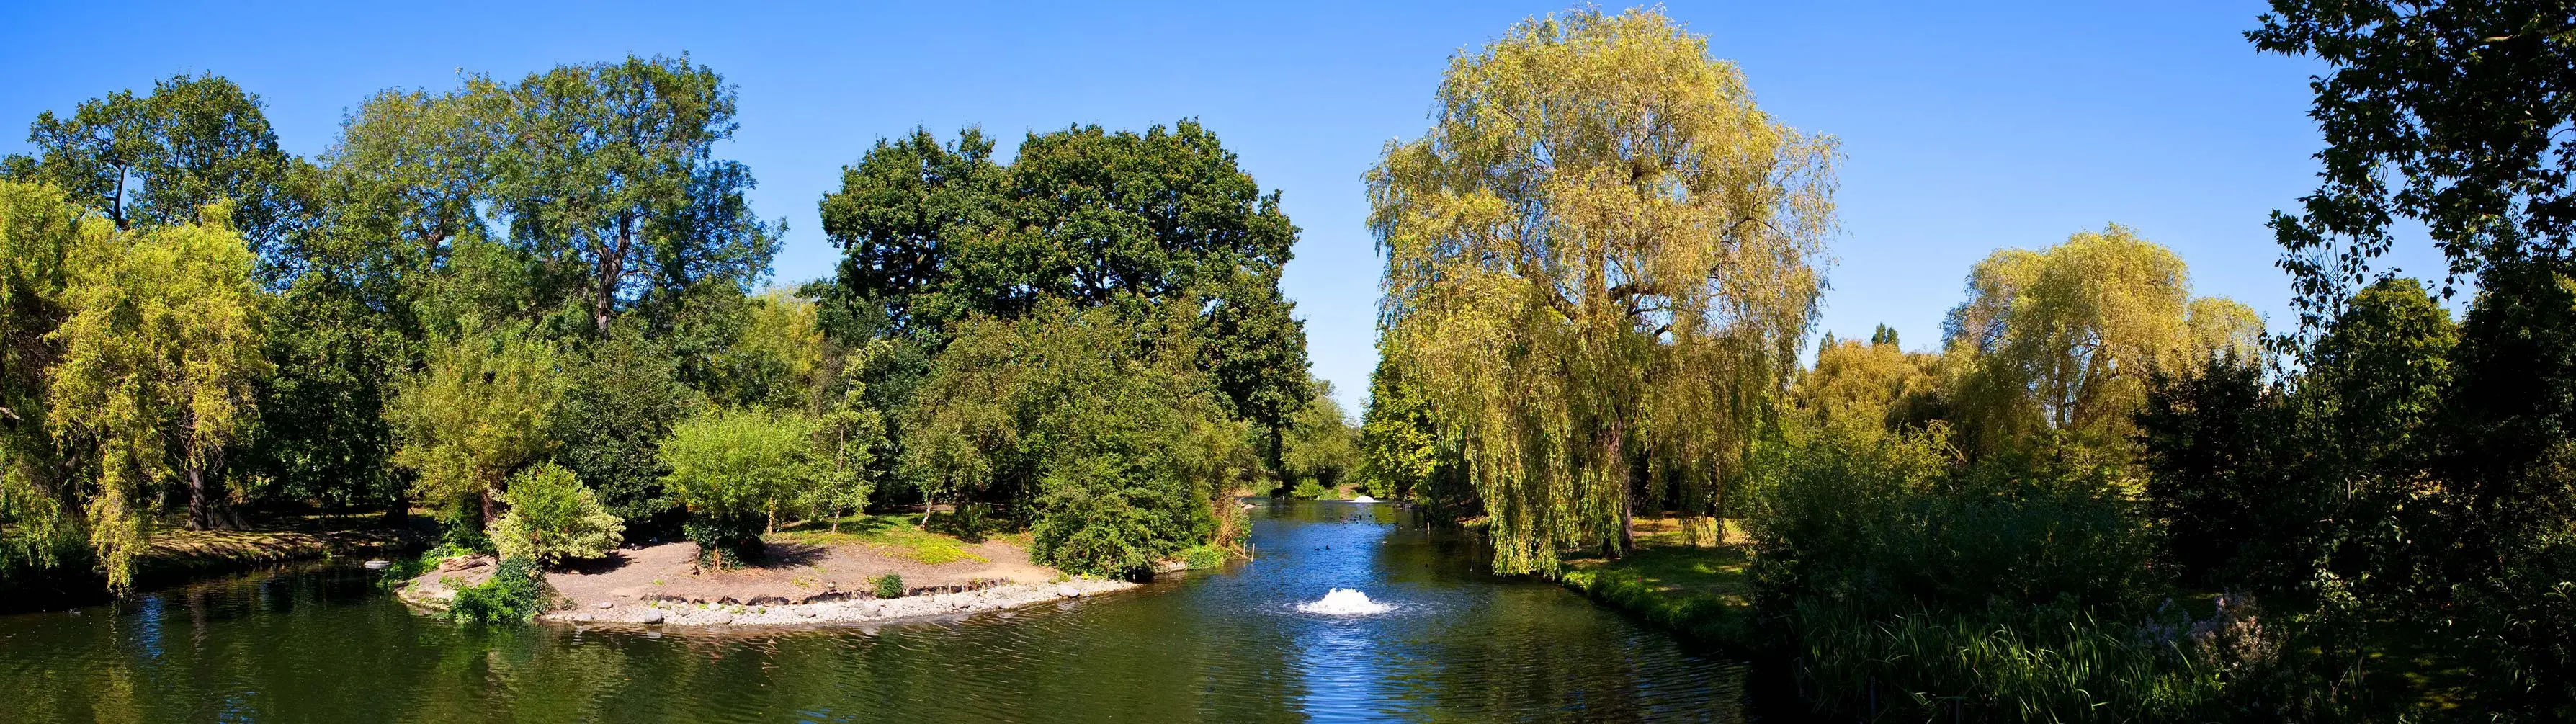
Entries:
{"type": "Polygon", "coordinates": [[[768,515],[814,472],[814,420],[708,407],[662,441],[662,487],[688,510],[683,531],[714,567],[762,551],[768,515]]]}

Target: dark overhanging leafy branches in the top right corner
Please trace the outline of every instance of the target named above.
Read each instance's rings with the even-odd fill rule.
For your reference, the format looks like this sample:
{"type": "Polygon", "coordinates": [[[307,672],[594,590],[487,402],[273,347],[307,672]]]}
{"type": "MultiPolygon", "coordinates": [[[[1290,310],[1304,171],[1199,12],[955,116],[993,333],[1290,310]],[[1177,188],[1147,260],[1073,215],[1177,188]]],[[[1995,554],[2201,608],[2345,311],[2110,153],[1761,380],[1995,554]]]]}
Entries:
{"type": "Polygon", "coordinates": [[[2331,67],[2311,82],[2318,188],[2298,214],[2272,214],[2303,330],[2370,281],[2398,219],[2424,224],[2450,260],[2442,296],[2494,265],[2571,260],[2566,26],[2553,3],[2272,0],[2246,39],[2331,67]]]}

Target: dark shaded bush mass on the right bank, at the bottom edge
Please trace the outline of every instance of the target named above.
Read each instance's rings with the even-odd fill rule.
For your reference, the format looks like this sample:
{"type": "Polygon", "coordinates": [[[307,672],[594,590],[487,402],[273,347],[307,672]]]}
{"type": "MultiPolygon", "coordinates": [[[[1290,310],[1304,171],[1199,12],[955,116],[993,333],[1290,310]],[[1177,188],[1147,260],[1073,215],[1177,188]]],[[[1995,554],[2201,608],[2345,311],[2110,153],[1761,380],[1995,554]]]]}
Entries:
{"type": "Polygon", "coordinates": [[[1770,461],[1757,613],[1785,629],[1819,709],[2094,721],[2215,706],[2223,680],[2156,613],[2174,590],[2154,531],[2105,469],[1945,451],[1937,430],[1824,435],[1770,461]]]}

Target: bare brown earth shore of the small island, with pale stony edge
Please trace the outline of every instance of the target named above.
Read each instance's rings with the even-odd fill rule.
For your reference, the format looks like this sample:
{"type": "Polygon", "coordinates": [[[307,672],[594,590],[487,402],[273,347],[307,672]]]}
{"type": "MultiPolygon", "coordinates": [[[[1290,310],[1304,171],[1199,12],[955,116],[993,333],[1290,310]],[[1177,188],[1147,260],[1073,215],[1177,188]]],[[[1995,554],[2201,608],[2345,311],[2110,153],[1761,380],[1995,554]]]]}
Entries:
{"type": "MultiPolygon", "coordinates": [[[[860,624],[1018,608],[1133,587],[1084,580],[1028,559],[1025,536],[966,541],[909,526],[902,515],[866,515],[829,526],[796,526],[765,536],[768,554],[737,569],[698,569],[688,541],[611,551],[546,572],[554,598],[546,621],[670,626],[796,626],[860,624]],[[878,598],[886,577],[902,595],[878,598]]],[[[489,557],[459,557],[422,572],[397,595],[443,611],[459,590],[492,577],[489,557]]]]}

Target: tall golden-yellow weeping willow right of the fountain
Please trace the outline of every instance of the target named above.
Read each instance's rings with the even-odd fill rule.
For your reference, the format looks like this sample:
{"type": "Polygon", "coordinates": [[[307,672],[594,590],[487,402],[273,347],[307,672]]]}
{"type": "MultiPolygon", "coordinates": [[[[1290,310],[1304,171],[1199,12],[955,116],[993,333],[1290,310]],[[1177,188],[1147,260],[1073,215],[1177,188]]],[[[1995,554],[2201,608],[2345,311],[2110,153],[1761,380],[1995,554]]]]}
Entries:
{"type": "Polygon", "coordinates": [[[1816,317],[1837,157],[1651,10],[1533,18],[1368,173],[1386,350],[1463,441],[1497,572],[1710,513],[1816,317]]]}

